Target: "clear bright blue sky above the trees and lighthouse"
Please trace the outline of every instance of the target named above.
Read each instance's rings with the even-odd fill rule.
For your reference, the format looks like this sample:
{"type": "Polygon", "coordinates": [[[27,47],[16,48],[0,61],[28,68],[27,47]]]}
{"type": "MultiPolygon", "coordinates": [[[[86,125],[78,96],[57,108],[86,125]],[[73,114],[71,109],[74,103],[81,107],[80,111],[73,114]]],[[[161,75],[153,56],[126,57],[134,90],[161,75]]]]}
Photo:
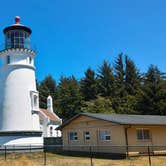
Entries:
{"type": "MultiPolygon", "coordinates": [[[[84,76],[121,52],[141,72],[166,71],[165,0],[8,0],[0,7],[0,32],[21,17],[32,29],[36,77],[84,76]]],[[[0,33],[0,44],[4,35],[0,33]]]]}

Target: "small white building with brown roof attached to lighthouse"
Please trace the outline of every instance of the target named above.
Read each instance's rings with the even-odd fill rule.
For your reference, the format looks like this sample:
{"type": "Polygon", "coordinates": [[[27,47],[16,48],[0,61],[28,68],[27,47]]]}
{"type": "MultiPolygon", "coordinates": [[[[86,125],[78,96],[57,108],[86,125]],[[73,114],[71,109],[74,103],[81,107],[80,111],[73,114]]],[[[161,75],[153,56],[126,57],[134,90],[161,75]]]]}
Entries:
{"type": "Polygon", "coordinates": [[[61,137],[61,131],[56,128],[62,124],[62,119],[53,112],[51,96],[47,98],[47,109],[40,108],[39,117],[43,137],[61,137]]]}

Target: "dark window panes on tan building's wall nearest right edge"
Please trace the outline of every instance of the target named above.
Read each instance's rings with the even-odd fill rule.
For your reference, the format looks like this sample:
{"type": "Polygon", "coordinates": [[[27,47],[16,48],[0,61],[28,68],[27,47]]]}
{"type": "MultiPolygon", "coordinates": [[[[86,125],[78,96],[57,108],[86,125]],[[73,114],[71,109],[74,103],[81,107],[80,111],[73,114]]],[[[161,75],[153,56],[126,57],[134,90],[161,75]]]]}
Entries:
{"type": "Polygon", "coordinates": [[[139,141],[150,140],[150,131],[148,129],[137,129],[137,140],[139,141]]]}

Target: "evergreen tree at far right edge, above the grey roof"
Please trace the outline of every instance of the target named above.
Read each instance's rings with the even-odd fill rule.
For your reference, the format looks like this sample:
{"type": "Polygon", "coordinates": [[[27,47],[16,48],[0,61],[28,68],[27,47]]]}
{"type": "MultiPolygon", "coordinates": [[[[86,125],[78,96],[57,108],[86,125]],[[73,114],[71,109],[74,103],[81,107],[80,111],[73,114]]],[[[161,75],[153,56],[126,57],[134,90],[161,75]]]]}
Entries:
{"type": "Polygon", "coordinates": [[[156,66],[151,65],[144,75],[138,109],[141,114],[166,115],[166,81],[156,66]]]}

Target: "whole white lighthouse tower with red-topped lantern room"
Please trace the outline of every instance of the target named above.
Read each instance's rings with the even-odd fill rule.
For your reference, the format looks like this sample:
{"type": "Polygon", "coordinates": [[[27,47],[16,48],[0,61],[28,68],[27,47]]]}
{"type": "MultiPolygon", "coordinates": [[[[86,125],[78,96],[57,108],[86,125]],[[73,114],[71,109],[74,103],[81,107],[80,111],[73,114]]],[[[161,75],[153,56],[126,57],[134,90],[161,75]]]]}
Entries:
{"type": "Polygon", "coordinates": [[[42,144],[39,95],[36,90],[31,29],[15,24],[3,30],[5,49],[0,51],[0,145],[42,144]]]}

